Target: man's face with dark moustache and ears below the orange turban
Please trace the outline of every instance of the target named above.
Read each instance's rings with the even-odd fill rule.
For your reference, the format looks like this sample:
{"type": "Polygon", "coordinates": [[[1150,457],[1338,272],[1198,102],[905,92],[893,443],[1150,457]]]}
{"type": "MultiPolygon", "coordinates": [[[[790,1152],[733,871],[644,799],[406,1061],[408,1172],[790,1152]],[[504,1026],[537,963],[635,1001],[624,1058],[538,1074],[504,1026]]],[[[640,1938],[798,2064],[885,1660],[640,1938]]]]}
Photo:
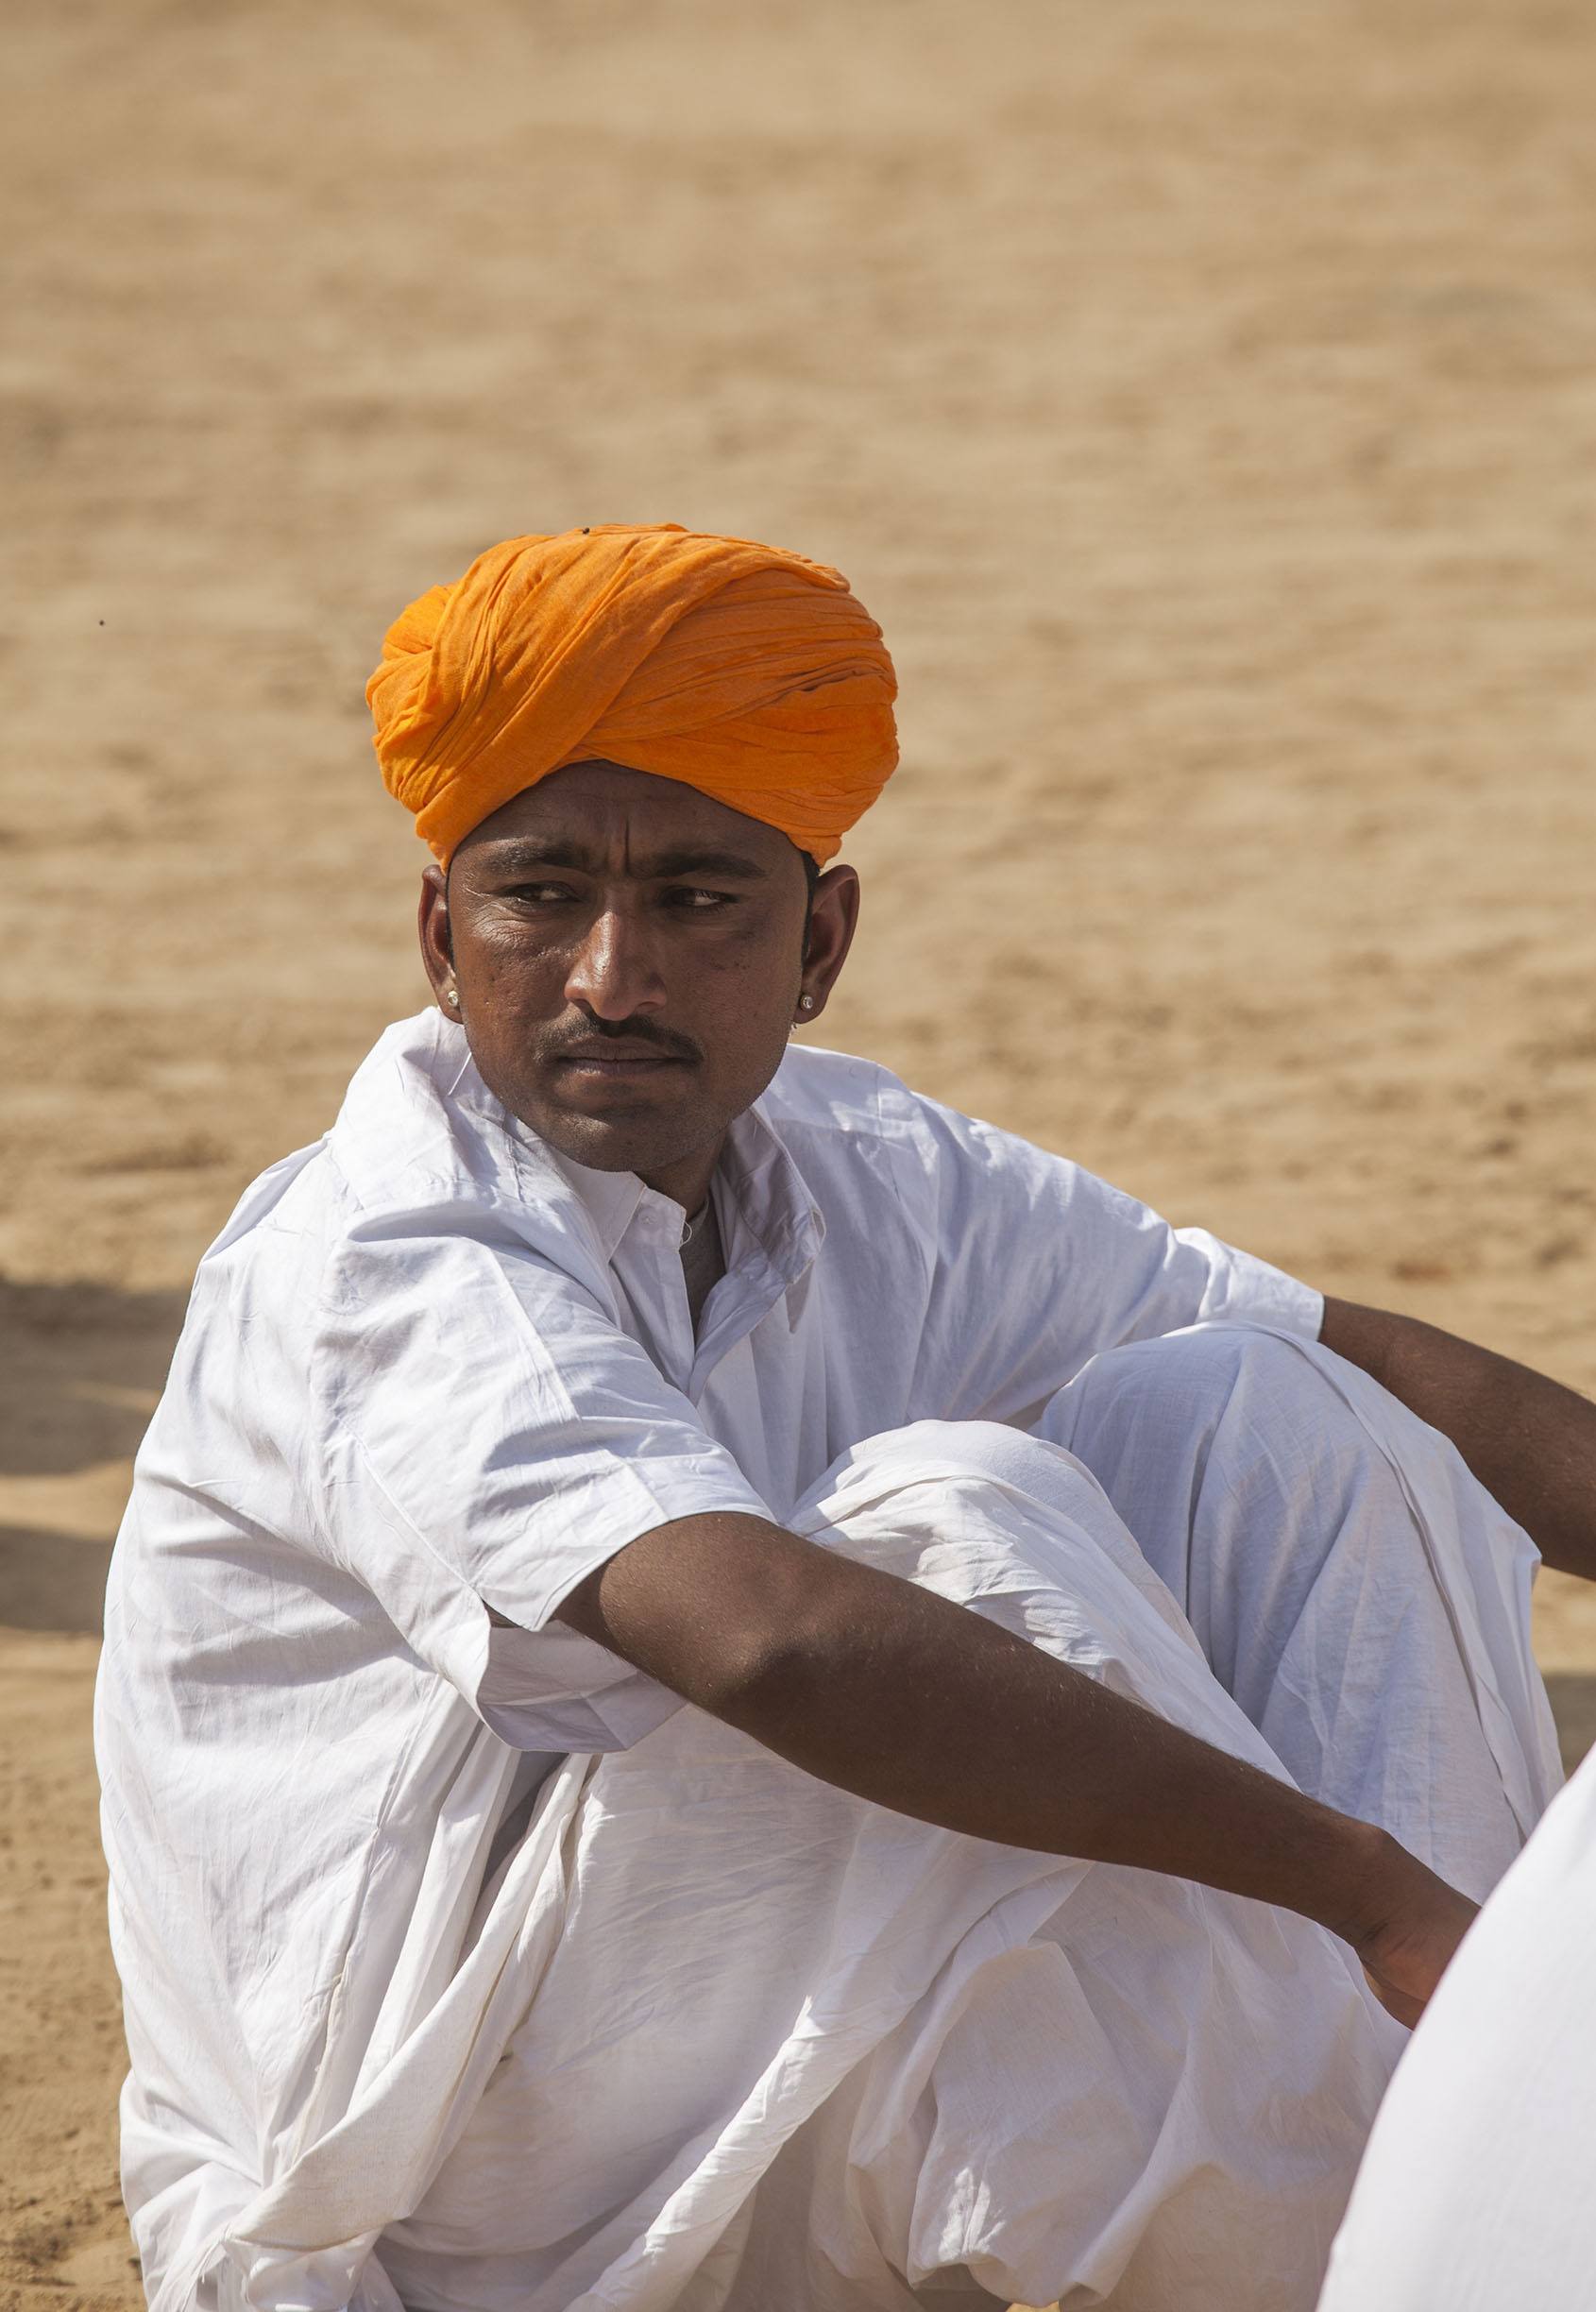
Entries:
{"type": "Polygon", "coordinates": [[[685,1211],[826,1010],[856,922],[851,867],[810,904],[775,828],[615,763],[516,795],[421,890],[428,978],[486,1084],[562,1156],[685,1211]]]}

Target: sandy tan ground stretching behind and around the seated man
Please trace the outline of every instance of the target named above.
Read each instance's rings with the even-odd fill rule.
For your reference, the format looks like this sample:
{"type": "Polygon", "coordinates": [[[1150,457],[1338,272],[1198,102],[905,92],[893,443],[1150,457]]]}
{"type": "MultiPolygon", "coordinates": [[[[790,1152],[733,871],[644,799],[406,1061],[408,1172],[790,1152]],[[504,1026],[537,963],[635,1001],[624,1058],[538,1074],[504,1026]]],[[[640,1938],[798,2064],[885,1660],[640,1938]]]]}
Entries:
{"type": "MultiPolygon", "coordinates": [[[[419,1003],[361,684],[511,529],[835,560],[830,1040],[1596,1385],[1596,16],[16,0],[0,2307],[130,2307],[88,1692],[199,1248],[419,1003]]],[[[1568,1746],[1596,1591],[1547,1581],[1568,1746]]]]}

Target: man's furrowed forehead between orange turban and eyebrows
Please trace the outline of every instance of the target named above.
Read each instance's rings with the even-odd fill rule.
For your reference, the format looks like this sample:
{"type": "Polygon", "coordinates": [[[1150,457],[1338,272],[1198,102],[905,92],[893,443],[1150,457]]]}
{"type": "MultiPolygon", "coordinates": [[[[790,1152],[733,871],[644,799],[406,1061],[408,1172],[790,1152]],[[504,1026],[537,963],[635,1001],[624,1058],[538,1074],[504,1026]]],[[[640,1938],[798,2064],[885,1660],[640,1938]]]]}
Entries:
{"type": "MultiPolygon", "coordinates": [[[[657,872],[659,860],[719,853],[768,876],[803,874],[803,855],[759,818],[712,802],[682,779],[659,779],[622,763],[571,763],[513,795],[467,835],[460,853],[513,844],[592,858],[618,872],[657,872]]],[[[460,855],[456,853],[456,855],[460,855]]]]}

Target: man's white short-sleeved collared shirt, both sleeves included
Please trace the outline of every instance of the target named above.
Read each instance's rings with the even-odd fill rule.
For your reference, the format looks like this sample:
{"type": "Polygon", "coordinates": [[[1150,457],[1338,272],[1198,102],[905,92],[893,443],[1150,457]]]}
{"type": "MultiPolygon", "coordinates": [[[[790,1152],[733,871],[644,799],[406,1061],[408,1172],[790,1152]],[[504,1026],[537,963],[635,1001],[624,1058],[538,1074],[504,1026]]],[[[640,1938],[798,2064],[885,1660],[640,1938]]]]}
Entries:
{"type": "Polygon", "coordinates": [[[1265,1262],[833,1052],[789,1052],[715,1200],[694,1341],[680,1205],[555,1156],[428,1010],[206,1253],[97,1711],[157,2312],[204,2300],[229,2217],[368,2060],[451,1808],[470,1919],[479,1727],[532,1759],[507,1813],[551,1755],[680,1706],[551,1621],[592,1568],[678,1517],[779,1521],[879,1431],[1027,1424],[1113,1343],[1321,1322],[1265,1262]]]}

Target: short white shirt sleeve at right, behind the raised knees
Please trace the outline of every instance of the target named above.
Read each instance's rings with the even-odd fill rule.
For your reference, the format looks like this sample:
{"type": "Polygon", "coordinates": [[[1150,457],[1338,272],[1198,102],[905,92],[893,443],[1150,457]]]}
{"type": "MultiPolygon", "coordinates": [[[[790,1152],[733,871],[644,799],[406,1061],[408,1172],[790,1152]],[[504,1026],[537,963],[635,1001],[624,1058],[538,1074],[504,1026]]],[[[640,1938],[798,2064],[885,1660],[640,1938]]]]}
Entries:
{"type": "Polygon", "coordinates": [[[1318,1339],[1323,1297],[1080,1165],[923,1103],[937,1290],[918,1396],[1025,1422],[1099,1350],[1210,1320],[1318,1339]]]}

